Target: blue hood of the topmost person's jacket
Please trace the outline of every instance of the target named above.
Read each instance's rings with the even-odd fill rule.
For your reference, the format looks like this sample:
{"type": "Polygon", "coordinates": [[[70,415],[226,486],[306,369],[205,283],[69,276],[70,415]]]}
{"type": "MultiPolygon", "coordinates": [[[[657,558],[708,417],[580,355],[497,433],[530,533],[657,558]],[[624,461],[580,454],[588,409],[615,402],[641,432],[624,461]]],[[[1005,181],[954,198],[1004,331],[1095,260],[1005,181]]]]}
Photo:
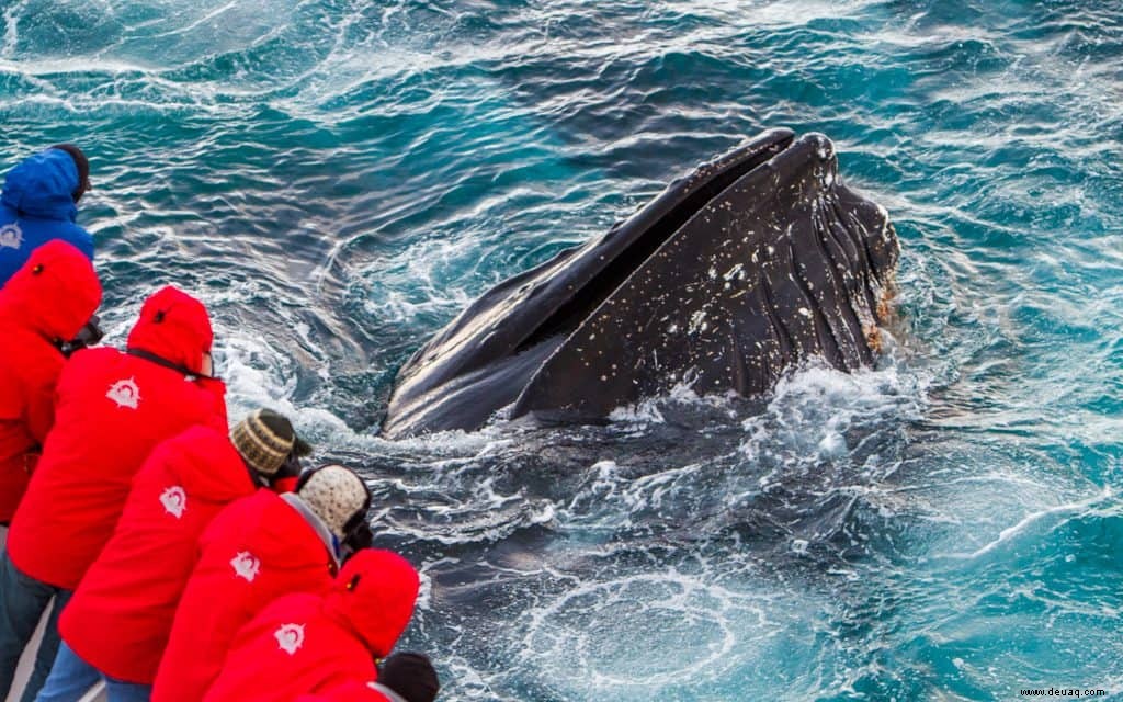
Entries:
{"type": "Polygon", "coordinates": [[[3,183],[0,203],[19,216],[74,221],[77,208],[77,166],[70,154],[57,148],[25,159],[12,168],[3,183]]]}

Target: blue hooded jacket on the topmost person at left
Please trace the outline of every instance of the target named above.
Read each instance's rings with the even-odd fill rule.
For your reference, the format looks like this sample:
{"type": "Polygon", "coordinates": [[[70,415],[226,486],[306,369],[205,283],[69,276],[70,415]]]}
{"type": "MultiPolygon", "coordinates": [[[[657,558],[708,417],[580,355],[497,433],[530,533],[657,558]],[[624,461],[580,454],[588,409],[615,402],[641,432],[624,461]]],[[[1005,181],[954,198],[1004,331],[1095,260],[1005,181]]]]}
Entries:
{"type": "Polygon", "coordinates": [[[48,148],[12,168],[0,193],[0,286],[31,252],[62,239],[93,259],[93,237],[74,224],[77,166],[66,152],[48,148]]]}

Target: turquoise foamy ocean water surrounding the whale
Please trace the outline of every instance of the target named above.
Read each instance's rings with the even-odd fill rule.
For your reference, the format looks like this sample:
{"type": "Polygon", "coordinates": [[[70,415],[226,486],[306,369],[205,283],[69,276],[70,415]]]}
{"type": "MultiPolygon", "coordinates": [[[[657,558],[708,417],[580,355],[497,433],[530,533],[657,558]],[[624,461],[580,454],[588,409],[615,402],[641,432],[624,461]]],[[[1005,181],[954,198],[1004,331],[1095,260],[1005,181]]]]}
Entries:
{"type": "MultiPolygon", "coordinates": [[[[1123,695],[1119,0],[0,0],[0,167],[73,140],[109,340],[363,469],[442,700],[1123,695]],[[763,128],[902,244],[876,368],[390,443],[497,281],[763,128]]],[[[1099,698],[1104,699],[1104,698],[1099,698]]]]}

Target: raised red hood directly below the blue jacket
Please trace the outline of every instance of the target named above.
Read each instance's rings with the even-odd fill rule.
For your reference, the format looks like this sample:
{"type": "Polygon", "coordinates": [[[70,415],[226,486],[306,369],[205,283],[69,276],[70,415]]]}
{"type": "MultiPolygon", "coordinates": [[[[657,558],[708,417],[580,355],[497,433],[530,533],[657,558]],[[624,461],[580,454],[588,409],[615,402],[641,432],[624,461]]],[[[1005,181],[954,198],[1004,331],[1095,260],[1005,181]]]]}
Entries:
{"type": "Polygon", "coordinates": [[[48,341],[73,339],[100,303],[101,283],[93,264],[57,239],[31,252],[0,290],[0,317],[48,341]]]}

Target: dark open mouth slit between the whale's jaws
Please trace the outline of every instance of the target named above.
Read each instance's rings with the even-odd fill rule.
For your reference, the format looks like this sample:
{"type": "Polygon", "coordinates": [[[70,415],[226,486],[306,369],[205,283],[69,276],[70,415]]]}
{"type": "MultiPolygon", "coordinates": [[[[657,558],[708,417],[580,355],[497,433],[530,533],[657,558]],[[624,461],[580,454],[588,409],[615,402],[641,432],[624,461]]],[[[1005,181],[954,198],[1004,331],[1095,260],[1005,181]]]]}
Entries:
{"type": "Polygon", "coordinates": [[[642,212],[618,222],[605,239],[614,236],[627,238],[629,240],[627,246],[585,283],[579,292],[575,292],[568,302],[560,306],[523,339],[514,353],[522,353],[551,337],[572,334],[692,217],[743,175],[787,148],[794,139],[795,133],[788,129],[767,131],[721,158],[699,166],[690,176],[672,183],[652,204],[648,206],[648,209],[657,208],[660,201],[666,201],[668,206],[658,208],[650,224],[647,224],[645,218],[643,227],[634,227],[636,220],[642,212]],[[628,231],[629,227],[634,227],[636,231],[628,231]]]}

